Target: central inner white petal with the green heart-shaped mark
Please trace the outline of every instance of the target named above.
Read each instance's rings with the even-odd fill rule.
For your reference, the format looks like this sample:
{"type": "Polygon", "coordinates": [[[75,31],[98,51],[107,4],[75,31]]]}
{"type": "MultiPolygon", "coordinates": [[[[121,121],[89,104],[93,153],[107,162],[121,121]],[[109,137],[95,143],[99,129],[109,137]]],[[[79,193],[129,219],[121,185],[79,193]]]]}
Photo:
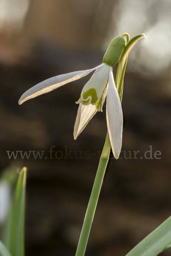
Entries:
{"type": "Polygon", "coordinates": [[[103,95],[106,83],[108,81],[110,66],[99,67],[91,76],[91,79],[85,84],[81,92],[81,99],[90,100],[92,105],[96,105],[103,95]]]}

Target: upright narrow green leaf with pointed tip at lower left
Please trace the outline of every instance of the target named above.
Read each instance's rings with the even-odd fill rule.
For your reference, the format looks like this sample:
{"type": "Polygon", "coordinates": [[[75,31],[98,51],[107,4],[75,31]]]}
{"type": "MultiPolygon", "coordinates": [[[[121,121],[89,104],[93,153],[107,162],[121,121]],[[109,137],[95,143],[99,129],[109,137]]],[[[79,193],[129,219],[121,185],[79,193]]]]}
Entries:
{"type": "Polygon", "coordinates": [[[24,256],[26,171],[26,167],[23,167],[20,172],[12,208],[9,246],[12,256],[24,256]]]}

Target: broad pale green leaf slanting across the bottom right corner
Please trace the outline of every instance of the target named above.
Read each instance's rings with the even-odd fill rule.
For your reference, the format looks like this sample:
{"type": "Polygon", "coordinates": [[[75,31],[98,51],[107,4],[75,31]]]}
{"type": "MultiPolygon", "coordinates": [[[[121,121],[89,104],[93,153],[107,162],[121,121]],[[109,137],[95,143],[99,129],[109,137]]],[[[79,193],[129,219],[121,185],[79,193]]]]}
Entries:
{"type": "Polygon", "coordinates": [[[171,243],[171,217],[145,237],[126,256],[157,256],[171,243]]]}

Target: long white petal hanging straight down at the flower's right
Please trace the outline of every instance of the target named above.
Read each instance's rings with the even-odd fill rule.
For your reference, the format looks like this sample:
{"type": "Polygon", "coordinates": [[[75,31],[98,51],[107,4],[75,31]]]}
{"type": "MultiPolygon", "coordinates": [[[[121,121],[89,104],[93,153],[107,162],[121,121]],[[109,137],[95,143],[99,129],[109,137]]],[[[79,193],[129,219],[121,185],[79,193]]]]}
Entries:
{"type": "Polygon", "coordinates": [[[120,97],[114,83],[112,67],[110,68],[108,79],[106,120],[112,152],[114,157],[118,159],[122,146],[123,112],[120,97]]]}

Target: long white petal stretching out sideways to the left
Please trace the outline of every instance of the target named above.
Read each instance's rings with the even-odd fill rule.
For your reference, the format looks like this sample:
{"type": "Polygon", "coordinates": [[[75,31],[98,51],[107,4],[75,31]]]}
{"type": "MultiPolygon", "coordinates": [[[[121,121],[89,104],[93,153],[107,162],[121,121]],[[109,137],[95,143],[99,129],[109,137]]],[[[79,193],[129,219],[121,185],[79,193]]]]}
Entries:
{"type": "Polygon", "coordinates": [[[87,76],[92,71],[96,70],[99,67],[103,67],[104,65],[105,64],[102,63],[99,66],[91,68],[89,70],[75,71],[75,72],[51,77],[51,78],[35,85],[34,87],[30,88],[29,90],[27,90],[21,96],[18,103],[21,105],[23,102],[25,102],[28,99],[32,99],[32,98],[37,97],[43,93],[48,93],[64,84],[67,84],[71,81],[80,79],[83,76],[87,76]]]}

